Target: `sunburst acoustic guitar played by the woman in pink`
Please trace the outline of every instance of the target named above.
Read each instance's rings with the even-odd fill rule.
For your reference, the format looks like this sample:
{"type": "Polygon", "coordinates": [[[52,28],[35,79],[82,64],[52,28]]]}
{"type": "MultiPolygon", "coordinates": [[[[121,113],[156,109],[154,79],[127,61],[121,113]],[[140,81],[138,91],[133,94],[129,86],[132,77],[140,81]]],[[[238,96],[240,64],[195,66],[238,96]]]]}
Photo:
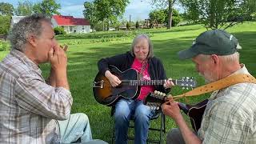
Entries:
{"type": "MultiPolygon", "coordinates": [[[[115,66],[110,66],[110,72],[120,80],[119,86],[111,86],[108,78],[98,72],[94,78],[93,93],[96,101],[102,105],[113,106],[118,98],[135,99],[138,98],[141,86],[163,85],[165,80],[139,80],[139,74],[134,69],[125,71],[118,70],[115,66]]],[[[175,85],[182,87],[196,87],[193,78],[182,78],[172,80],[175,85]]]]}

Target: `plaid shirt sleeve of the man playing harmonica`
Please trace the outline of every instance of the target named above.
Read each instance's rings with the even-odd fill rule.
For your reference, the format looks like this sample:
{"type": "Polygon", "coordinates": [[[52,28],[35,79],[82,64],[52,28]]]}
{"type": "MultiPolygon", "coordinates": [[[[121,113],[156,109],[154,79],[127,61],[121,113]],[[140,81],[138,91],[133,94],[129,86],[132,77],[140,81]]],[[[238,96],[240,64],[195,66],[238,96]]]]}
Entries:
{"type": "Polygon", "coordinates": [[[70,91],[47,85],[38,74],[20,76],[14,86],[14,97],[19,106],[46,118],[69,118],[73,102],[70,91]]]}

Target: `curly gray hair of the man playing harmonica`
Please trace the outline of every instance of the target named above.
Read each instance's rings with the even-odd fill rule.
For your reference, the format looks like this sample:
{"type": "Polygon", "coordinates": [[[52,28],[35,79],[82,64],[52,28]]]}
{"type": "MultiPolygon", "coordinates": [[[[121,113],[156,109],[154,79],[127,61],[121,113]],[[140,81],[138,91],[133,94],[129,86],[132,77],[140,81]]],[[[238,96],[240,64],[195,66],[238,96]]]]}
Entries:
{"type": "Polygon", "coordinates": [[[38,37],[42,34],[42,22],[49,22],[51,24],[50,18],[47,18],[43,14],[33,14],[22,18],[22,20],[16,23],[10,30],[8,36],[11,49],[24,52],[26,42],[30,35],[33,34],[35,37],[38,37]]]}

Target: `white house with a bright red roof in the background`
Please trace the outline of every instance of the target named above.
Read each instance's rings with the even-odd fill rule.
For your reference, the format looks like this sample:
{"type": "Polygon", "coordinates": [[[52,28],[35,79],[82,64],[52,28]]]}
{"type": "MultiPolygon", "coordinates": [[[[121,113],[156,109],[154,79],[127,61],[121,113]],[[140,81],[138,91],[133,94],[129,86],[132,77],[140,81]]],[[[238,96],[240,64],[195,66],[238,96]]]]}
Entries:
{"type": "Polygon", "coordinates": [[[53,15],[51,22],[54,27],[62,26],[67,34],[90,33],[90,22],[85,18],[74,18],[73,16],[53,15]]]}

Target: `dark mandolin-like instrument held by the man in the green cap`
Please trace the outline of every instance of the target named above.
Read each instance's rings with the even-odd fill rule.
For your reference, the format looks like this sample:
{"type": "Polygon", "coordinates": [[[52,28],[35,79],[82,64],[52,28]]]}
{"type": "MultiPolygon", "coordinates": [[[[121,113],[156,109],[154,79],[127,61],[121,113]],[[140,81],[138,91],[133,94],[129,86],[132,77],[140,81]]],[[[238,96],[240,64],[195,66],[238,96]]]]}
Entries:
{"type": "MultiPolygon", "coordinates": [[[[167,102],[167,97],[165,94],[155,91],[154,93],[150,93],[146,96],[144,100],[144,104],[147,106],[160,107],[162,103],[167,102]]],[[[178,106],[183,112],[189,116],[191,126],[195,132],[197,132],[201,126],[202,115],[206,110],[206,104],[208,99],[199,102],[195,105],[188,105],[182,102],[178,102],[178,106]]]]}

